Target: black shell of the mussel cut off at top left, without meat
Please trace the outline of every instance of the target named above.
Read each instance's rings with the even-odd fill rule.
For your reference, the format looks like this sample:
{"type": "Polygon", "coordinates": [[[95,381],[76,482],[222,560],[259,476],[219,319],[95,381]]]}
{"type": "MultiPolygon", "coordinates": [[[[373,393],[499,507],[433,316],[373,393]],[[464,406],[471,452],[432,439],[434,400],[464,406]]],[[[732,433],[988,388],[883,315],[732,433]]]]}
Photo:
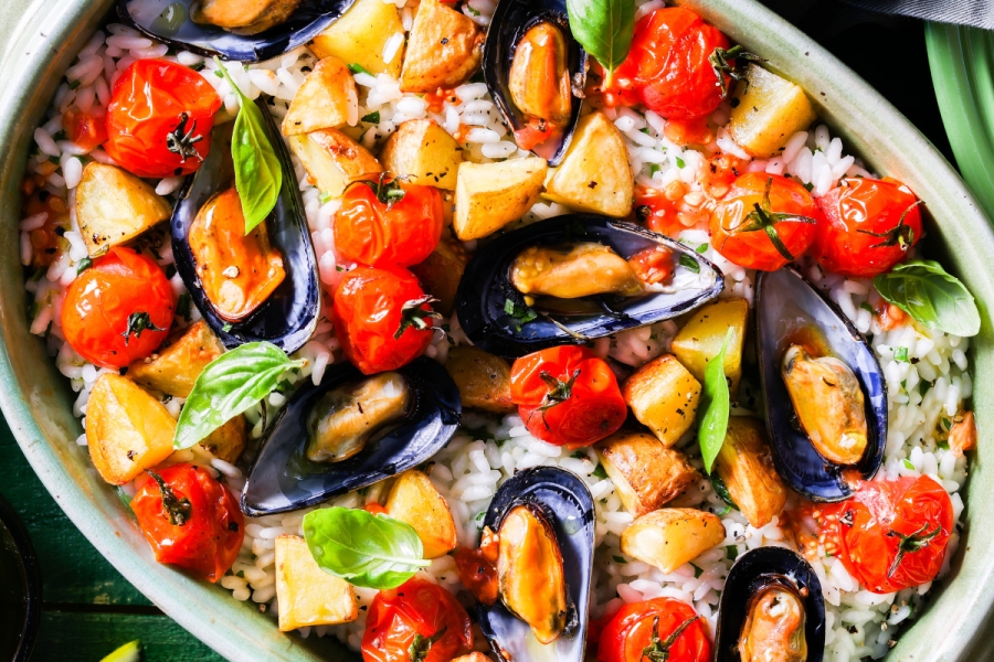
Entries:
{"type": "Polygon", "coordinates": [[[202,0],[118,0],[117,13],[148,36],[180,51],[240,62],[278,57],[306,44],[348,11],[355,0],[303,0],[283,23],[258,34],[235,34],[190,20],[202,0]]]}

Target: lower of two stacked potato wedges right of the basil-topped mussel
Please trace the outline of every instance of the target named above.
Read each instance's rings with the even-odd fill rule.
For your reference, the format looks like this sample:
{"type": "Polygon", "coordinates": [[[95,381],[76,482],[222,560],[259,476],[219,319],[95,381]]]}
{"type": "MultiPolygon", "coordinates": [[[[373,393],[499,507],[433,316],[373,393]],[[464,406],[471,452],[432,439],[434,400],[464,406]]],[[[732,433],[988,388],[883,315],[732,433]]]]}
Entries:
{"type": "Polygon", "coordinates": [[[338,129],[290,136],[289,143],[315,185],[332,197],[364,175],[383,172],[376,157],[338,129]]]}

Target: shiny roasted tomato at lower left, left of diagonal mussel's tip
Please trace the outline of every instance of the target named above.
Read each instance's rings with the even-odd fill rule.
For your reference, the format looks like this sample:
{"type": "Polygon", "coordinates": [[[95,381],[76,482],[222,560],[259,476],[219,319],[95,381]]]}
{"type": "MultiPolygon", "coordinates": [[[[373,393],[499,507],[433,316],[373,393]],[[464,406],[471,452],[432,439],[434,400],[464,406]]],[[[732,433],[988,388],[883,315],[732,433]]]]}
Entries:
{"type": "Polygon", "coordinates": [[[245,537],[235,495],[209,470],[187,463],[147,471],[135,487],[131,510],[156,560],[218,581],[237,558],[245,537]]]}

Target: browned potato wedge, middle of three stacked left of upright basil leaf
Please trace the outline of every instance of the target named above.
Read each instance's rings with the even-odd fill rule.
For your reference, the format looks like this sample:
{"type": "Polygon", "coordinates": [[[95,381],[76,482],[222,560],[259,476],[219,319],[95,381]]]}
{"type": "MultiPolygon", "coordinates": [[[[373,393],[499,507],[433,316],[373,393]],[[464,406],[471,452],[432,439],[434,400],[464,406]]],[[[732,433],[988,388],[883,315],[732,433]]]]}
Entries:
{"type": "Polygon", "coordinates": [[[622,430],[595,448],[625,510],[636,517],[663,508],[700,479],[684,453],[652,435],[622,430]]]}

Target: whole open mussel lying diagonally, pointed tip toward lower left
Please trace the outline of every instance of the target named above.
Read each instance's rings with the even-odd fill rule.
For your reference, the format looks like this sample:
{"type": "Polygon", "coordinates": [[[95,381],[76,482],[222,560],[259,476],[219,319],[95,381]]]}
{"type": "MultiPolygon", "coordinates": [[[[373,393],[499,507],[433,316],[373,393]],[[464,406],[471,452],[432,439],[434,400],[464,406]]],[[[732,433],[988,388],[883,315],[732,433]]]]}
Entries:
{"type": "Polygon", "coordinates": [[[297,391],[273,421],[242,492],[252,516],[315,505],[424,462],[459,424],[459,391],[422,356],[364,376],[330,366],[297,391]]]}

